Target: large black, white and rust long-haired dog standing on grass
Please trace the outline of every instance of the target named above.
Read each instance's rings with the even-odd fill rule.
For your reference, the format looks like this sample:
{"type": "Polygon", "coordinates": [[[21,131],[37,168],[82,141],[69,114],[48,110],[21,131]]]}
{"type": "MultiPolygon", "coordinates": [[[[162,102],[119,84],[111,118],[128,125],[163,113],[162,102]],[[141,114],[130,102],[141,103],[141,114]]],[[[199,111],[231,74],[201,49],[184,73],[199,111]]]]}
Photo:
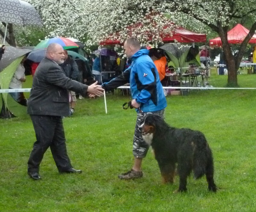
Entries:
{"type": "Polygon", "coordinates": [[[203,133],[170,127],[154,114],[145,116],[140,129],[145,142],[152,146],[164,183],[173,183],[177,163],[179,192],[187,190],[187,178],[191,171],[195,179],[206,175],[208,189],[216,192],[212,151],[203,133]]]}

